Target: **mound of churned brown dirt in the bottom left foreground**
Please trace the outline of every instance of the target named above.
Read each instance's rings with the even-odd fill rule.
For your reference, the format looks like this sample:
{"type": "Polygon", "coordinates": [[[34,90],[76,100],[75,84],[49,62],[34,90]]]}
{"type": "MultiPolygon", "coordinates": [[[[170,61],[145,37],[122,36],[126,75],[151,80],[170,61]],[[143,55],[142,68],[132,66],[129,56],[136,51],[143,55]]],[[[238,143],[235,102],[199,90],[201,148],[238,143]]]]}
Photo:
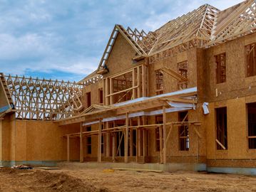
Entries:
{"type": "MultiPolygon", "coordinates": [[[[15,182],[19,190],[24,191],[63,191],[63,192],[109,192],[107,188],[96,188],[89,181],[82,181],[67,174],[51,173],[39,170],[0,169],[4,178],[10,178],[11,183],[15,182]]],[[[1,186],[0,191],[4,187],[1,186]]],[[[6,189],[8,189],[6,187],[6,189]]]]}

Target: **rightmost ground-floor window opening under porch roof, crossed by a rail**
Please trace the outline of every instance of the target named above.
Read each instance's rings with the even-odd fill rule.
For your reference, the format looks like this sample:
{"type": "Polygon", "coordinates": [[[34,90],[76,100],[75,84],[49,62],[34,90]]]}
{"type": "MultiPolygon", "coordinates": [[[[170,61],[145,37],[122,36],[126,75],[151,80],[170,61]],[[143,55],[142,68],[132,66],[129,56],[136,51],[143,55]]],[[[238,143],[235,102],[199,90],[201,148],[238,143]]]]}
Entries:
{"type": "MultiPolygon", "coordinates": [[[[178,121],[188,122],[188,112],[179,112],[178,121]]],[[[179,130],[179,150],[188,151],[189,150],[188,125],[182,125],[178,127],[178,130],[179,130]]]]}

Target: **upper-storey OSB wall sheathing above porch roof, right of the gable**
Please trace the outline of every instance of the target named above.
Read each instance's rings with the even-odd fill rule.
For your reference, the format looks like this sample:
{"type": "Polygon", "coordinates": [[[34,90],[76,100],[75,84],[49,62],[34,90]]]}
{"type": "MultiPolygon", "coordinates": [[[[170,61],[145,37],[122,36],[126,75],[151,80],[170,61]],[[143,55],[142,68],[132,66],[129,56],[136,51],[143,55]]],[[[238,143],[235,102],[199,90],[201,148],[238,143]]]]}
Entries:
{"type": "MultiPolygon", "coordinates": [[[[158,60],[149,65],[149,96],[155,95],[155,70],[170,68],[178,72],[178,63],[188,60],[188,87],[197,86],[197,49],[186,50],[173,57],[158,60]]],[[[163,75],[164,92],[174,92],[178,90],[178,80],[172,78],[167,73],[163,75]]]]}

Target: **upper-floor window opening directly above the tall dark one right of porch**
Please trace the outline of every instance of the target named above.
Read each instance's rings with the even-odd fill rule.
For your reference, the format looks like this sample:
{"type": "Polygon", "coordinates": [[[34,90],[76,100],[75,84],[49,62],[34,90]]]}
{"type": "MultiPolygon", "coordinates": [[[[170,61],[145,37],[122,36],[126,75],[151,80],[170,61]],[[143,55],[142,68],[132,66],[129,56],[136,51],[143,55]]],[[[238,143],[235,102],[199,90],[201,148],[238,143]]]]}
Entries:
{"type": "Polygon", "coordinates": [[[216,83],[226,82],[226,53],[215,55],[216,83]]]}

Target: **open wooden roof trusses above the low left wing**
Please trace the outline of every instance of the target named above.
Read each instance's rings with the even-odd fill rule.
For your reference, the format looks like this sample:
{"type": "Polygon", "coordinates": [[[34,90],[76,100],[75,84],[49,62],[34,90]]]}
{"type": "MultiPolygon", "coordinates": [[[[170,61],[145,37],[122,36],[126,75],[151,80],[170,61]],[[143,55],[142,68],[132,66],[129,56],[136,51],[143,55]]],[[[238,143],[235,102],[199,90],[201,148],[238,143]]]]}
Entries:
{"type": "Polygon", "coordinates": [[[5,76],[17,119],[53,120],[83,110],[82,85],[76,82],[5,76]]]}

